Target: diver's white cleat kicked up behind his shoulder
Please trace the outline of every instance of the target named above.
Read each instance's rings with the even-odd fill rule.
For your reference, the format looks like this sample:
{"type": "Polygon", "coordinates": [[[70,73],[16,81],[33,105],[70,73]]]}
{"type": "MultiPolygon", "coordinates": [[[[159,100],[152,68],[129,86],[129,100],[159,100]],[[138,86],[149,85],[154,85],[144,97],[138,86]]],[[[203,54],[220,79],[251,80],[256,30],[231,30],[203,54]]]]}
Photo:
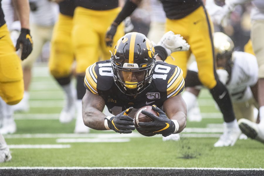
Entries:
{"type": "Polygon", "coordinates": [[[190,45],[180,34],[174,35],[172,31],[165,33],[157,45],[165,48],[168,56],[175,51],[188,51],[190,45]]]}

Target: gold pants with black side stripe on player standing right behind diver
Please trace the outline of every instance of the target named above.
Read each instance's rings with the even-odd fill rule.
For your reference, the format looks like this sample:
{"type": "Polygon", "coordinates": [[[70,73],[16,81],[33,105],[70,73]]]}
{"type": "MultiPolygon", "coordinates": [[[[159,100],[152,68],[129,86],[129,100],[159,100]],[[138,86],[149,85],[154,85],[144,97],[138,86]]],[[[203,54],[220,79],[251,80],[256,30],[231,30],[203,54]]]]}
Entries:
{"type": "Polygon", "coordinates": [[[211,20],[205,13],[204,7],[200,6],[194,12],[184,18],[166,21],[166,31],[173,31],[180,34],[190,44],[189,51],[181,51],[172,53],[171,57],[167,57],[166,62],[179,66],[183,71],[183,77],[187,74],[187,62],[191,53],[196,58],[198,66],[198,76],[202,84],[212,89],[216,86],[213,39],[211,28],[211,20]]]}

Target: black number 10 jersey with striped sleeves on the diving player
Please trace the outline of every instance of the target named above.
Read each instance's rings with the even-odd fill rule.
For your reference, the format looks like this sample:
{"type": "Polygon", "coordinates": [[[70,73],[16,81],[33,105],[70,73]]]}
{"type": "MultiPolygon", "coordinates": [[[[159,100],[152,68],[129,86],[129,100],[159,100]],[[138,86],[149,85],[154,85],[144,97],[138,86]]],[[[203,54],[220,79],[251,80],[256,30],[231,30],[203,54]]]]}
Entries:
{"type": "Polygon", "coordinates": [[[127,96],[116,86],[110,60],[96,62],[86,69],[84,86],[93,94],[103,97],[110,112],[118,108],[139,109],[146,105],[163,106],[163,102],[183,91],[185,82],[180,67],[158,61],[153,68],[150,85],[136,96],[127,96]]]}

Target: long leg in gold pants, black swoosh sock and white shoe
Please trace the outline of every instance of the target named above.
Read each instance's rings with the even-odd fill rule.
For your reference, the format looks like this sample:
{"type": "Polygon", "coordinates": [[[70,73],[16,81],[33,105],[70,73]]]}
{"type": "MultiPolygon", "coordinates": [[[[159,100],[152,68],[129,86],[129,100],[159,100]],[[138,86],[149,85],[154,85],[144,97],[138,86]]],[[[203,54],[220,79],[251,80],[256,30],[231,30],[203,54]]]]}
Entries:
{"type": "MultiPolygon", "coordinates": [[[[240,135],[241,131],[239,130],[237,121],[235,120],[231,100],[229,98],[229,93],[226,87],[219,81],[216,75],[214,67],[214,50],[212,40],[213,29],[211,29],[210,23],[211,22],[209,20],[209,17],[204,12],[203,7],[201,6],[196,9],[193,13],[180,20],[167,19],[166,31],[171,30],[174,33],[180,33],[184,37],[184,39],[190,44],[190,50],[196,58],[197,66],[199,69],[199,80],[205,87],[210,89],[210,93],[219,105],[221,112],[224,116],[225,131],[222,137],[214,146],[232,146],[238,139],[238,136],[240,135]]],[[[168,61],[166,61],[168,63],[174,63],[178,65],[183,70],[184,77],[186,77],[187,64],[185,63],[185,65],[182,65],[181,61],[177,61],[187,61],[187,58],[183,59],[182,57],[179,57],[180,53],[182,52],[172,53],[172,57],[176,58],[174,62],[169,59],[167,59],[168,61]],[[177,60],[177,58],[179,59],[177,60]]]]}

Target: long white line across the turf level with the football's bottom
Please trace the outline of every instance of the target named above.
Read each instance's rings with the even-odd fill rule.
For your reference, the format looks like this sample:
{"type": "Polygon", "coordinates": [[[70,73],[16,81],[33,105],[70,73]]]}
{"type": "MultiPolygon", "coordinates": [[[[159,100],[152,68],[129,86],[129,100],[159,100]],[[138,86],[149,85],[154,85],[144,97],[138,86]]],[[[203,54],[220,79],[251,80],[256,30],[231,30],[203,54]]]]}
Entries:
{"type": "MultiPolygon", "coordinates": [[[[212,137],[219,137],[221,133],[180,133],[182,137],[189,137],[189,138],[212,138],[212,137]]],[[[68,133],[68,134],[6,134],[4,135],[6,139],[16,139],[16,138],[150,138],[143,136],[139,133],[130,133],[130,134],[119,134],[119,133],[91,133],[91,134],[75,134],[75,133],[68,133]]],[[[151,138],[161,138],[161,135],[155,135],[151,138]]]]}

